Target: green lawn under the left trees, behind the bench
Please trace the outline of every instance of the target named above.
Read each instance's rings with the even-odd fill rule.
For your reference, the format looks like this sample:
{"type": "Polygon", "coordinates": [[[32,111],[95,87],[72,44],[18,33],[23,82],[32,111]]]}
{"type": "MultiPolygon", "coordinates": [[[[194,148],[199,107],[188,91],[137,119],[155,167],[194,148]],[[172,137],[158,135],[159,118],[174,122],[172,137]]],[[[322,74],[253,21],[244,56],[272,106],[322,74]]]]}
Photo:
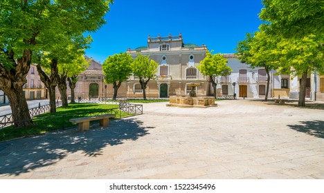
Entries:
{"type": "Polygon", "coordinates": [[[62,130],[71,128],[77,124],[69,122],[69,119],[76,118],[78,116],[91,116],[98,114],[117,114],[118,119],[127,114],[118,110],[118,105],[106,105],[97,103],[74,103],[69,104],[68,108],[57,108],[56,114],[40,114],[33,118],[34,125],[26,128],[15,128],[13,126],[3,128],[0,130],[0,141],[8,139],[15,139],[24,136],[31,136],[34,134],[43,134],[51,132],[53,130],[62,130]]]}

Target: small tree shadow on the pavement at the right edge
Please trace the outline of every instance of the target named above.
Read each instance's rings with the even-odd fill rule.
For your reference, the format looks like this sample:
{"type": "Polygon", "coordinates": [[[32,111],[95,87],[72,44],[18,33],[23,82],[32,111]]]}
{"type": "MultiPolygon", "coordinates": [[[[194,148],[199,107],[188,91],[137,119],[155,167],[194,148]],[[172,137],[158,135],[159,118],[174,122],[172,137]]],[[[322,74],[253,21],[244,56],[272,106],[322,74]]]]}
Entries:
{"type": "Polygon", "coordinates": [[[298,132],[324,138],[324,121],[300,121],[300,125],[288,125],[298,132]]]}

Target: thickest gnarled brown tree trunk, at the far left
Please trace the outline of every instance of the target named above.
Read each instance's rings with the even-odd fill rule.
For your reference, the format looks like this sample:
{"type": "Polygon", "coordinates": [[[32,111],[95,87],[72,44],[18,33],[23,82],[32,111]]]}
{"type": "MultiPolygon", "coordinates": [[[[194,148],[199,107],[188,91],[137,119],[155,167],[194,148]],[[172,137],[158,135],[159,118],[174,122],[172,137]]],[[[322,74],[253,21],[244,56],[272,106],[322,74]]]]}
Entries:
{"type": "Polygon", "coordinates": [[[8,96],[12,111],[12,120],[16,127],[33,125],[30,119],[28,105],[22,89],[27,82],[26,75],[30,68],[32,51],[25,49],[24,54],[19,59],[14,59],[15,53],[4,51],[8,59],[15,68],[6,69],[0,64],[0,90],[8,96]]]}

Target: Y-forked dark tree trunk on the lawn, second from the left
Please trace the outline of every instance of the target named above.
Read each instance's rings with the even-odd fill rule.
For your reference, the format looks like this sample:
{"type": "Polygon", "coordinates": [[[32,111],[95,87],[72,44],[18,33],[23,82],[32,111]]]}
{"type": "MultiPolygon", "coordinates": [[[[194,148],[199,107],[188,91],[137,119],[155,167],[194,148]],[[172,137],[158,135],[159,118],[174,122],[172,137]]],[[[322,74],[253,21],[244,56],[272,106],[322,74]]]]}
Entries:
{"type": "Polygon", "coordinates": [[[39,74],[39,77],[41,81],[44,83],[45,87],[48,89],[48,94],[50,98],[50,107],[51,107],[51,114],[54,114],[56,112],[56,103],[55,103],[55,87],[57,85],[58,80],[58,69],[57,69],[57,59],[52,59],[51,61],[51,76],[48,77],[48,75],[43,72],[41,67],[41,62],[39,58],[39,63],[37,65],[37,72],[39,74]]]}

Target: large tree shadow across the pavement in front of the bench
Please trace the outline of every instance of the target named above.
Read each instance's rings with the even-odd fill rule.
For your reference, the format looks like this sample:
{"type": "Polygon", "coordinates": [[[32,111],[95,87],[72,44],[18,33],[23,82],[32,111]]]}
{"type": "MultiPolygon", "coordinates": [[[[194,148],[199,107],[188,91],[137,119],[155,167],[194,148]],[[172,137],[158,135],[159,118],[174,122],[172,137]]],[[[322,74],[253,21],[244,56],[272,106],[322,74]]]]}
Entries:
{"type": "Polygon", "coordinates": [[[108,145],[120,145],[149,134],[136,119],[118,119],[108,128],[94,125],[87,132],[63,130],[0,143],[0,176],[19,175],[38,167],[52,165],[68,154],[82,151],[84,156],[100,156],[108,145]]]}

